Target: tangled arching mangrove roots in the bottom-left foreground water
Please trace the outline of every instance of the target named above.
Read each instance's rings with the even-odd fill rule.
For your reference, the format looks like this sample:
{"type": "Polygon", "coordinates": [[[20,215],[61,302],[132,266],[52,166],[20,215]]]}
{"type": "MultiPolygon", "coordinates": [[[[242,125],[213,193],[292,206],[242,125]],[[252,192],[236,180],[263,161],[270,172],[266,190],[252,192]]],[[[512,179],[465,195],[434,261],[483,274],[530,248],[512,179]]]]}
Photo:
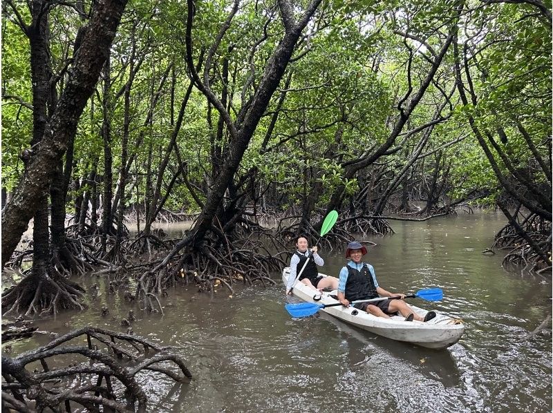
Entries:
{"type": "Polygon", "coordinates": [[[166,347],[129,334],[84,327],[16,358],[2,356],[2,410],[40,412],[48,407],[71,412],[84,407],[93,412],[146,412],[148,397],[136,377],[140,372],[165,374],[177,382],[192,377],[182,358],[166,347]],[[81,345],[83,340],[86,346],[81,345]],[[63,360],[66,355],[82,361],[52,367],[64,366],[57,358],[63,360]],[[42,371],[26,369],[38,361],[42,371]],[[178,370],[167,367],[167,362],[178,370]]]}

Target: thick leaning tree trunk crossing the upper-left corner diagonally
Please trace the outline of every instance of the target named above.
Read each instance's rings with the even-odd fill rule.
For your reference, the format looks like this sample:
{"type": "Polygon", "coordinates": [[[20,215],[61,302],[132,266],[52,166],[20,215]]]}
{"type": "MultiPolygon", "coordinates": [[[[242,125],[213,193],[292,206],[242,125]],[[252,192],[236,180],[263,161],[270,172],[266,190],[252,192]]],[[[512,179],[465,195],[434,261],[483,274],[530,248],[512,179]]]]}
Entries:
{"type": "Polygon", "coordinates": [[[94,3],[91,21],[75,54],[66,88],[46,126],[43,139],[33,148],[35,154],[15,189],[12,202],[2,213],[2,267],[12,256],[30,218],[48,194],[57,162],[64,155],[68,140],[75,136],[79,117],[93,93],[125,6],[126,0],[94,3]]]}

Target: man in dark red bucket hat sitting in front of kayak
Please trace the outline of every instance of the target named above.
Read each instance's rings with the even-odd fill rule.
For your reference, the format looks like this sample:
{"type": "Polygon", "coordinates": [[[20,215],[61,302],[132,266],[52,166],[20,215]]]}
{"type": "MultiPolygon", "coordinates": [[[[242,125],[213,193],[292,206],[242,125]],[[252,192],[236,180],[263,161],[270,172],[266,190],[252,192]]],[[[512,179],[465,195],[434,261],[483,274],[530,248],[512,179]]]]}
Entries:
{"type": "Polygon", "coordinates": [[[382,287],[379,287],[373,266],[362,262],[362,257],[367,249],[357,241],[352,241],[346,249],[346,258],[349,262],[342,267],[338,284],[338,300],[342,305],[348,307],[350,302],[355,300],[369,300],[378,297],[400,297],[399,300],[380,300],[375,302],[359,302],[354,307],[367,311],[373,316],[390,318],[390,314],[399,312],[406,321],[428,321],[436,316],[434,311],[429,311],[424,318],[403,301],[405,294],[392,294],[382,287]]]}

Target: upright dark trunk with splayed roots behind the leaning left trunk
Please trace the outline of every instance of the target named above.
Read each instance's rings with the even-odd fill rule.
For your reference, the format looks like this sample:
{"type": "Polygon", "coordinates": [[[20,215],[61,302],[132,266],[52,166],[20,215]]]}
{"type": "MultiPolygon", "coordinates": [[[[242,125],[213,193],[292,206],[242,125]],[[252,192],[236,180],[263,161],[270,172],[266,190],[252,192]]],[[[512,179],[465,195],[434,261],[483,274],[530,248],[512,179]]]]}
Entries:
{"type": "MultiPolygon", "coordinates": [[[[33,136],[31,148],[36,148],[37,153],[31,155],[28,164],[26,164],[27,167],[24,172],[24,178],[28,175],[32,176],[32,173],[35,172],[37,165],[33,164],[33,161],[36,161],[40,156],[41,148],[44,147],[41,146],[41,144],[48,141],[48,120],[50,120],[48,119],[48,109],[50,109],[50,113],[52,113],[53,106],[56,103],[55,85],[53,84],[53,75],[50,70],[50,52],[48,48],[49,7],[50,4],[40,0],[30,3],[32,24],[28,28],[25,28],[26,34],[30,39],[31,50],[33,95],[33,136]]],[[[50,160],[50,162],[50,167],[52,169],[50,174],[55,175],[57,172],[55,171],[56,167],[59,166],[61,168],[61,156],[58,157],[57,160],[50,160]]],[[[39,171],[44,175],[44,169],[39,171]]],[[[59,184],[59,182],[63,185],[64,180],[59,179],[56,183],[59,184]]],[[[2,295],[2,308],[7,309],[9,307],[10,309],[8,311],[24,310],[26,314],[33,314],[39,309],[46,307],[52,308],[55,312],[58,302],[64,307],[68,306],[68,302],[73,302],[79,306],[71,296],[75,294],[80,296],[83,291],[82,288],[74,283],[65,282],[65,280],[60,279],[55,270],[50,271],[50,249],[48,246],[48,185],[50,183],[51,182],[48,181],[44,182],[41,191],[35,193],[35,196],[39,198],[32,200],[32,202],[35,202],[35,207],[32,209],[32,212],[35,213],[32,234],[32,270],[30,276],[24,278],[17,286],[6,291],[2,295]],[[71,291],[68,292],[66,287],[71,288],[71,291]],[[64,292],[62,293],[62,291],[64,292]]],[[[25,191],[20,192],[19,189],[20,186],[17,188],[18,202],[26,195],[25,191]]],[[[62,203],[64,202],[64,196],[55,197],[54,199],[56,202],[59,202],[60,199],[62,199],[62,203]]],[[[8,205],[4,213],[7,218],[9,218],[10,215],[10,205],[8,205]]],[[[59,211],[59,209],[56,211],[59,211]]],[[[29,213],[29,211],[23,212],[29,213]]],[[[6,222],[9,228],[13,228],[12,224],[14,222],[23,222],[21,217],[19,217],[19,220],[17,219],[18,217],[12,218],[15,219],[3,220],[2,227],[4,231],[6,230],[4,222],[6,222]]],[[[59,225],[55,222],[57,218],[59,218],[58,214],[53,214],[53,224],[55,223],[55,227],[59,228],[59,225]]],[[[62,232],[63,228],[64,225],[62,223],[62,232]]],[[[2,239],[6,240],[6,233],[4,231],[2,233],[2,239]]],[[[58,234],[54,232],[54,235],[57,236],[58,234]]],[[[21,237],[21,234],[19,234],[19,237],[21,237]]],[[[13,240],[10,240],[10,242],[13,242],[13,240]]],[[[13,252],[8,251],[5,255],[4,246],[5,242],[3,242],[2,245],[2,266],[13,252]]]]}

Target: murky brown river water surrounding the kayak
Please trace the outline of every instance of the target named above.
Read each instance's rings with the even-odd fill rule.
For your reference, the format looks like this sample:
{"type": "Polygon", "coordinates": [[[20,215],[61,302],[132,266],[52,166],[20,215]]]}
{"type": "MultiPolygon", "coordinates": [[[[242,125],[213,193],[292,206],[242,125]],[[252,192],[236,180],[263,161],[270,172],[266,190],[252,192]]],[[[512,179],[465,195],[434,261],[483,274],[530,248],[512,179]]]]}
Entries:
{"type": "MultiPolygon", "coordinates": [[[[501,214],[476,211],[392,221],[395,235],[366,238],[377,246],[365,259],[388,291],[443,289],[441,302],[411,302],[465,321],[465,335],[446,350],[398,343],[326,314],[290,318],[284,305],[295,299],[285,297],[277,273],[276,286],[232,298],[221,287],[213,296],[179,287],[162,300],[165,316],[102,289],[86,311],[35,325],[60,334],[84,325],[124,332],[120,320],[133,308],[134,333],[174,346],[194,374],[183,385],[143,377],[151,412],[551,412],[551,335],[525,340],[551,311],[551,280],[509,273],[500,254],[481,253],[503,224],[501,214]],[[111,307],[106,318],[102,305],[111,307]]],[[[321,272],[337,276],[344,251],[319,252],[321,272]]],[[[12,342],[12,354],[47,341],[12,342]]]]}

